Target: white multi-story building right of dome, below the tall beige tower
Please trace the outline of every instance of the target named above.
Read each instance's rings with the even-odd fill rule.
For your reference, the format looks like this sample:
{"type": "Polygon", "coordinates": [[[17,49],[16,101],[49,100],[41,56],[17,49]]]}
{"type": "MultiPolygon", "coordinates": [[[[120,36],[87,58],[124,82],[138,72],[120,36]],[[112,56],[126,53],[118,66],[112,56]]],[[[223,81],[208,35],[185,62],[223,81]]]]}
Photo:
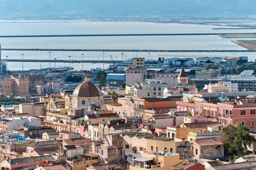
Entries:
{"type": "Polygon", "coordinates": [[[164,87],[168,85],[162,80],[146,79],[143,83],[132,85],[131,92],[134,97],[159,97],[163,96],[164,87]]]}

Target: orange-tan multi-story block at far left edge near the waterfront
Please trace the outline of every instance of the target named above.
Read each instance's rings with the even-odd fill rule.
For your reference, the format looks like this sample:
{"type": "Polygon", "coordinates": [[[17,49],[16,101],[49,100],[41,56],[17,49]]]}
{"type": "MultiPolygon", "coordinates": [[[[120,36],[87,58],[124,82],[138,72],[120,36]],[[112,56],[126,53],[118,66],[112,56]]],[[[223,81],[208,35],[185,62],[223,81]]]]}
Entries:
{"type": "Polygon", "coordinates": [[[29,80],[24,76],[11,76],[10,79],[0,80],[1,92],[3,94],[13,94],[13,96],[27,96],[29,94],[29,80]]]}

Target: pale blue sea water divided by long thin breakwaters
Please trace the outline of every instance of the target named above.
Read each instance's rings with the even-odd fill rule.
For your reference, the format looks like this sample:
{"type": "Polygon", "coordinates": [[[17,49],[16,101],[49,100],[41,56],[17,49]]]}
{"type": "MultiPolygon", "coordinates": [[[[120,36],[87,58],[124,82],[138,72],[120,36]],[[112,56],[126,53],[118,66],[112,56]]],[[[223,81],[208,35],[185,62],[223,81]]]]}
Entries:
{"type": "MultiPolygon", "coordinates": [[[[168,24],[154,22],[88,22],[53,20],[0,20],[0,36],[51,35],[51,34],[154,34],[154,33],[231,33],[256,32],[256,29],[214,29],[228,28],[226,25],[168,24]]],[[[236,38],[237,39],[237,38],[236,38]]],[[[52,38],[0,38],[2,48],[84,48],[122,50],[246,50],[232,43],[229,38],[219,36],[105,36],[105,37],[52,37],[52,38]]],[[[244,39],[244,38],[243,38],[244,39]]],[[[250,38],[247,38],[250,39],[250,38]]],[[[51,67],[72,66],[81,70],[81,63],[58,63],[54,59],[81,60],[122,60],[122,52],[54,52],[47,51],[2,51],[2,59],[49,59],[51,67]],[[50,56],[49,56],[50,55],[50,56]],[[71,56],[71,57],[68,57],[71,56]]],[[[239,57],[248,56],[255,60],[255,53],[148,53],[124,52],[124,60],[132,57],[158,59],[158,57],[239,57]]],[[[24,62],[24,69],[49,67],[47,62],[24,62]]],[[[84,69],[106,68],[109,64],[84,63],[84,69]]],[[[9,70],[21,70],[22,62],[8,62],[9,70]]]]}

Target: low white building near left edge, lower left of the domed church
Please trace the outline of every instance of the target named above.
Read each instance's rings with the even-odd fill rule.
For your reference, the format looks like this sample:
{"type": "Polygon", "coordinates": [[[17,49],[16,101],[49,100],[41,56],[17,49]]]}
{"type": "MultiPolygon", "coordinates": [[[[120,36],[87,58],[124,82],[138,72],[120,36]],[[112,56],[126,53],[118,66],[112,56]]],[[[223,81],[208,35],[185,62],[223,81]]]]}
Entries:
{"type": "Polygon", "coordinates": [[[41,120],[37,117],[7,117],[6,120],[7,129],[6,131],[12,132],[13,128],[23,127],[40,127],[41,120]]]}

